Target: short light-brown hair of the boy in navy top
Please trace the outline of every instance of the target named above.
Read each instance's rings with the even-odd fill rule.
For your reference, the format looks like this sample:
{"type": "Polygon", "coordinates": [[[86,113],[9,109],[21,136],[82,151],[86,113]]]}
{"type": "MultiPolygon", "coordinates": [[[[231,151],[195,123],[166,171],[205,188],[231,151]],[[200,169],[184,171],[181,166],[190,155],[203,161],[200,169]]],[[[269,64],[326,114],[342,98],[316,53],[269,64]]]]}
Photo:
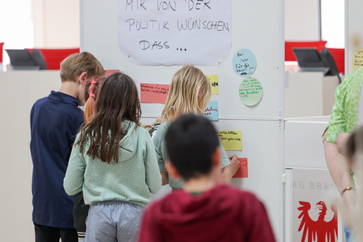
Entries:
{"type": "Polygon", "coordinates": [[[74,53],[65,58],[61,63],[61,80],[76,81],[83,72],[87,73],[87,78],[93,76],[103,76],[105,71],[101,63],[89,52],[74,53]]]}

